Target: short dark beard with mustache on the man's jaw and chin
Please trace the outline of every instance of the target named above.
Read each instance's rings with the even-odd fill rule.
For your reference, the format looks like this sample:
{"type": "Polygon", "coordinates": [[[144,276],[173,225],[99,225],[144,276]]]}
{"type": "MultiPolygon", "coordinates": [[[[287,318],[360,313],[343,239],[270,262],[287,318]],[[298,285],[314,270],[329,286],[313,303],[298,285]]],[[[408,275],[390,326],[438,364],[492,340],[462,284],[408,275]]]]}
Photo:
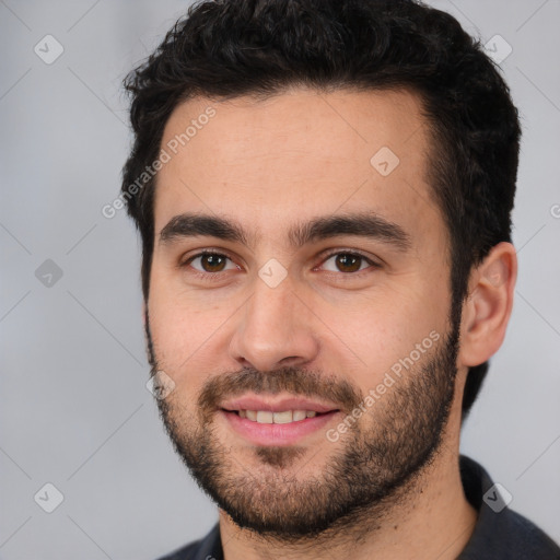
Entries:
{"type": "MultiPolygon", "coordinates": [[[[148,317],[145,327],[155,375],[159,365],[148,317]]],[[[180,400],[177,390],[158,399],[160,417],[195,481],[238,527],[264,540],[285,544],[317,542],[335,535],[359,540],[393,508],[406,503],[415,482],[442,448],[454,398],[458,339],[459,322],[455,320],[420,360],[422,365],[410,366],[336,446],[327,444],[332,451],[311,476],[298,472],[320,450],[235,447],[217,434],[215,416],[220,402],[247,392],[326,399],[350,413],[365,395],[340,377],[296,368],[273,372],[244,368],[209,377],[195,409],[180,400]]]]}

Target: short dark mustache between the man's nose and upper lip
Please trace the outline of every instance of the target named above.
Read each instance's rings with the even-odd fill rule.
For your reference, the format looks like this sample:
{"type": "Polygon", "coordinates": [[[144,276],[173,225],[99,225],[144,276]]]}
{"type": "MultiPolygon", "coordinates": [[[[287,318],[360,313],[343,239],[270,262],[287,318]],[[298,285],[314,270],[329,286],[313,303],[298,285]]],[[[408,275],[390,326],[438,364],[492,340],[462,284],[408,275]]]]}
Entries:
{"type": "Polygon", "coordinates": [[[238,397],[249,392],[257,395],[277,395],[285,392],[295,396],[328,400],[343,411],[353,410],[363,400],[358,387],[317,371],[288,366],[261,372],[253,368],[243,368],[209,378],[202,387],[198,406],[202,412],[212,413],[226,398],[238,397]]]}

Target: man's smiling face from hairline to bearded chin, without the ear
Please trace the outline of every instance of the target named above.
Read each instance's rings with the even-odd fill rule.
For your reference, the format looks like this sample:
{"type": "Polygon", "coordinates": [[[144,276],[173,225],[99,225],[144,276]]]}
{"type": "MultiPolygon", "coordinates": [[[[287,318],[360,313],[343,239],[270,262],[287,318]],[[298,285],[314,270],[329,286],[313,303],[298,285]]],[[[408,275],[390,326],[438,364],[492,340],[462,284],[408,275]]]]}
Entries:
{"type": "Polygon", "coordinates": [[[195,478],[237,524],[285,538],[390,498],[438,450],[456,374],[418,101],[198,98],[162,148],[152,373],[175,384],[159,406],[195,478]]]}

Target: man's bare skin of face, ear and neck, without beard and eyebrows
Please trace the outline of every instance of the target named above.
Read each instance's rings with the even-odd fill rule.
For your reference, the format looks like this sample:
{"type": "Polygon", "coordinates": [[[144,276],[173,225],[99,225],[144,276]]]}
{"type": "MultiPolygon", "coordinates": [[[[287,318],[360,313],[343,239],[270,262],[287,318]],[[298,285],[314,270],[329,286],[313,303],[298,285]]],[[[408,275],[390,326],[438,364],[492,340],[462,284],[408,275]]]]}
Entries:
{"type": "MultiPolygon", "coordinates": [[[[159,368],[175,383],[168,397],[175,410],[180,407],[196,421],[205,382],[244,366],[322,371],[366,394],[431,331],[448,332],[448,235],[423,178],[429,136],[413,94],[299,89],[265,102],[194,98],[172,114],[162,147],[208,106],[215,116],[159,172],[155,195],[147,310],[159,368]],[[400,160],[388,176],[370,163],[382,147],[400,160]],[[410,247],[402,252],[352,235],[299,248],[289,243],[295,223],[364,210],[398,224],[409,234],[410,247]],[[235,220],[252,244],[210,236],[161,243],[162,229],[182,212],[235,220]],[[195,276],[195,265],[205,273],[200,259],[177,266],[202,249],[232,259],[219,280],[195,276]],[[327,250],[359,252],[381,266],[364,262],[359,272],[343,272],[327,250]],[[276,288],[258,276],[272,258],[287,271],[276,288]]],[[[375,527],[357,520],[364,530],[350,541],[339,534],[307,544],[272,541],[238,527],[220,509],[226,560],[349,553],[355,560],[456,558],[476,523],[458,471],[463,388],[468,366],[488,360],[503,341],[516,267],[513,246],[500,243],[471,271],[442,445],[415,485],[385,505],[375,527]]],[[[372,415],[362,425],[374,425],[372,415]]],[[[214,429],[217,441],[231,446],[236,475],[246,469],[265,479],[279,468],[266,464],[226,423],[217,421],[214,429]]],[[[284,465],[291,476],[300,481],[316,477],[348,442],[324,435],[304,440],[303,453],[284,465]]]]}

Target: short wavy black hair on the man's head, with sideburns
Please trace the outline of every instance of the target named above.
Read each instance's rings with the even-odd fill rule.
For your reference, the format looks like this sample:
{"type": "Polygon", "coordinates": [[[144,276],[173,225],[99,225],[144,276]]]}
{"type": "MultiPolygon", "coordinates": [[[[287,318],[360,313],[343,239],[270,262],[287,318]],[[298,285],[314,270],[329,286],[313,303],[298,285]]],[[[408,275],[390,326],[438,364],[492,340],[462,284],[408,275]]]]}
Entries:
{"type": "MultiPolygon", "coordinates": [[[[521,128],[510,90],[480,40],[422,2],[199,1],[124,84],[135,139],[121,197],[142,238],[145,301],[156,175],[144,171],[158,159],[174,108],[195,96],[258,100],[292,86],[416,93],[431,138],[431,194],[450,233],[454,320],[460,320],[471,268],[494,245],[511,242],[521,128]]],[[[464,418],[488,365],[469,369],[464,418]]]]}

